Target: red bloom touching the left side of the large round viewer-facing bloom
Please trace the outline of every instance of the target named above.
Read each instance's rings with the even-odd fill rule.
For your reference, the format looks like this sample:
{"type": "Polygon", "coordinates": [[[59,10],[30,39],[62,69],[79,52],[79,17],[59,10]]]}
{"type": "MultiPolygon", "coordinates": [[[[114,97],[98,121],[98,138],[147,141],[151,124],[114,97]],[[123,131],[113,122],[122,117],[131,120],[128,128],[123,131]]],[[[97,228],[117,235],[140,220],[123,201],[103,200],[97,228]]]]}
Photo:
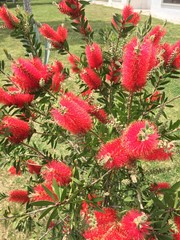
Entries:
{"type": "Polygon", "coordinates": [[[97,159],[99,164],[107,169],[120,168],[130,162],[130,158],[122,146],[120,138],[114,139],[101,146],[97,159]]]}

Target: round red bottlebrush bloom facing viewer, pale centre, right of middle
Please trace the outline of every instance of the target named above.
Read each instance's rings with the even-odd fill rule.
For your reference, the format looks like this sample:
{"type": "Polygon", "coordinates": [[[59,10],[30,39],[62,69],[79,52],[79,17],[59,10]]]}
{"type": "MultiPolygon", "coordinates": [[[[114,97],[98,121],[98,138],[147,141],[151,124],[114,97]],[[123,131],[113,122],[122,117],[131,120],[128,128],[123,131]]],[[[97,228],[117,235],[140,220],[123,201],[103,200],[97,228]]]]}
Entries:
{"type": "Polygon", "coordinates": [[[145,120],[131,123],[122,136],[123,146],[132,158],[146,158],[157,149],[158,138],[155,126],[145,120]]]}

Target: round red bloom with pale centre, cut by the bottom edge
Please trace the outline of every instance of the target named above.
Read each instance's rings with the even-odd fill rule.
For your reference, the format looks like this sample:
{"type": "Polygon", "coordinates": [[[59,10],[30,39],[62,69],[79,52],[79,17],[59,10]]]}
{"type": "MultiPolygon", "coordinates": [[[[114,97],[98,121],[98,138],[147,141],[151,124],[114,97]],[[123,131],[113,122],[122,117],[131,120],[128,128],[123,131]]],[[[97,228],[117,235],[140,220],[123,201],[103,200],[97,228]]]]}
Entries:
{"type": "Polygon", "coordinates": [[[145,239],[149,233],[150,222],[145,213],[138,210],[130,210],[121,219],[122,230],[125,240],[140,240],[145,239]]]}

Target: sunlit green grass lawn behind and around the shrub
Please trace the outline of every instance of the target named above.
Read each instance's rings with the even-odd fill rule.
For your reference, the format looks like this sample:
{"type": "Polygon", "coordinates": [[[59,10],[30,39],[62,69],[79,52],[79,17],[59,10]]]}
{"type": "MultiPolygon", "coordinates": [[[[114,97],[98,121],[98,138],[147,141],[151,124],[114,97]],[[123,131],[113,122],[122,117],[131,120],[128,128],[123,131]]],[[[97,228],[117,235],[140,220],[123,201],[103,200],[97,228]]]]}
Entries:
{"type": "MultiPolygon", "coordinates": [[[[18,4],[21,6],[22,2],[18,1],[18,4]]],[[[14,5],[12,3],[7,4],[13,11],[14,5]]],[[[82,45],[83,41],[81,40],[81,36],[76,34],[70,26],[70,20],[65,16],[62,15],[58,9],[52,5],[51,0],[36,0],[35,2],[32,1],[32,9],[34,13],[34,17],[36,21],[41,23],[48,23],[53,27],[57,27],[59,24],[64,24],[65,27],[68,28],[68,42],[70,46],[70,51],[77,55],[80,55],[82,49],[80,46],[82,45]]],[[[100,5],[89,5],[86,8],[87,18],[92,26],[92,28],[96,31],[95,33],[95,41],[99,42],[99,34],[98,30],[104,27],[110,27],[110,22],[114,13],[120,12],[119,9],[114,9],[111,7],[104,7],[100,5]]],[[[147,16],[142,16],[142,20],[147,19],[147,16]]],[[[153,19],[153,25],[156,24],[163,24],[163,21],[158,19],[153,19]]],[[[180,39],[180,25],[175,25],[172,23],[167,23],[167,34],[164,38],[164,41],[168,41],[170,43],[174,43],[175,41],[180,39]]],[[[16,59],[18,57],[22,57],[24,55],[24,50],[21,47],[21,43],[14,38],[9,36],[9,30],[0,29],[0,60],[5,59],[5,54],[3,49],[7,49],[9,53],[16,59]]],[[[50,61],[58,59],[63,60],[65,64],[67,64],[66,57],[62,57],[57,51],[52,51],[50,56],[50,61]]],[[[10,62],[7,64],[8,68],[10,66],[10,62]]],[[[1,76],[0,76],[1,79],[1,76]]],[[[0,83],[1,85],[1,83],[0,83]]],[[[179,94],[180,83],[177,79],[171,81],[168,85],[167,93],[169,94],[169,99],[179,94]]],[[[172,110],[167,111],[168,114],[171,114],[171,118],[178,119],[180,116],[178,102],[175,103],[175,108],[172,110]]],[[[144,167],[147,169],[147,174],[150,178],[155,178],[158,181],[170,181],[175,182],[179,178],[180,174],[180,164],[178,157],[175,158],[173,162],[166,162],[166,163],[145,163],[144,167]],[[158,172],[158,168],[162,168],[162,171],[158,172]],[[150,169],[150,170],[149,170],[150,169]]],[[[23,177],[18,178],[11,178],[11,180],[7,180],[8,175],[5,171],[1,171],[0,175],[0,191],[7,192],[9,185],[10,188],[17,187],[17,185],[21,184],[23,177]],[[4,180],[5,179],[5,180],[4,180]]],[[[0,239],[15,239],[17,237],[17,233],[12,233],[7,229],[0,228],[0,239]],[[15,234],[15,235],[14,235],[15,234]]],[[[20,239],[31,239],[25,235],[20,236],[20,239]]],[[[33,238],[32,238],[33,239],[33,238]]]]}

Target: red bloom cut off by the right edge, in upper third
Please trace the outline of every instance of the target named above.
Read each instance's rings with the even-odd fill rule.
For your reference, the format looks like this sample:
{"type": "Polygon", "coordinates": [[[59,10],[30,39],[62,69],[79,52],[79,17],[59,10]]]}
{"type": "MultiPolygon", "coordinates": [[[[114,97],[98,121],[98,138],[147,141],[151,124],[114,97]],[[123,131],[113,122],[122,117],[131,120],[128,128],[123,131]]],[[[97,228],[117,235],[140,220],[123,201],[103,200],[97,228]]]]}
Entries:
{"type": "Polygon", "coordinates": [[[165,43],[162,45],[164,64],[174,68],[180,68],[180,41],[170,45],[165,43]]]}

